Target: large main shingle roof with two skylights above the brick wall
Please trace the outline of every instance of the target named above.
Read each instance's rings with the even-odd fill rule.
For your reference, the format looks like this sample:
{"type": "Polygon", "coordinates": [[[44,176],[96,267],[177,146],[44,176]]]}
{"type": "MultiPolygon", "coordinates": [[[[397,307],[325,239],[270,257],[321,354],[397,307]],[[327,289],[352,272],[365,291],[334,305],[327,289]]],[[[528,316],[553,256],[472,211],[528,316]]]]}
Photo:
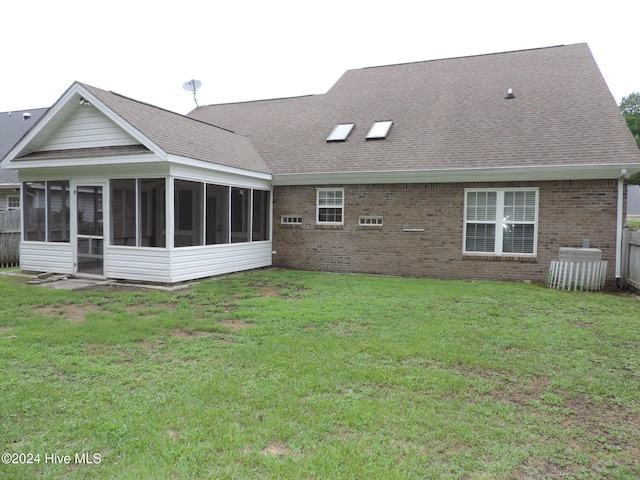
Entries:
{"type": "Polygon", "coordinates": [[[349,70],[324,95],[189,116],[247,135],[275,174],[640,163],[586,44],[349,70]],[[365,141],[378,120],[388,137],[365,141]]]}

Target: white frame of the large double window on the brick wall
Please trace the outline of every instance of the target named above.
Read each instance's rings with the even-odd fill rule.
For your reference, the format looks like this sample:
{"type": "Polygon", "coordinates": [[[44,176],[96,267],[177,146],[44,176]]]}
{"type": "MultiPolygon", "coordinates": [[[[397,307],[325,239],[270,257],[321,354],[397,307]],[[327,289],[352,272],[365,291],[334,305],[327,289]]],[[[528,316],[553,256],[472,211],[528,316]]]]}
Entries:
{"type": "Polygon", "coordinates": [[[465,188],[464,190],[464,228],[462,232],[462,253],[464,255],[477,255],[477,256],[499,256],[499,257],[536,257],[538,254],[538,223],[539,223],[539,201],[540,201],[540,189],[538,187],[514,187],[514,188],[465,188]],[[467,219],[467,201],[469,193],[472,192],[495,192],[496,193],[496,219],[494,222],[476,222],[467,219]],[[506,219],[504,218],[505,207],[505,193],[507,192],[534,192],[535,193],[535,219],[533,221],[519,221],[509,222],[519,225],[533,225],[533,252],[532,253],[517,253],[517,252],[503,252],[503,239],[504,230],[506,227],[506,219]],[[467,226],[469,223],[487,223],[495,224],[495,241],[493,252],[477,252],[467,251],[467,226]],[[502,228],[499,228],[498,226],[502,228]]]}

